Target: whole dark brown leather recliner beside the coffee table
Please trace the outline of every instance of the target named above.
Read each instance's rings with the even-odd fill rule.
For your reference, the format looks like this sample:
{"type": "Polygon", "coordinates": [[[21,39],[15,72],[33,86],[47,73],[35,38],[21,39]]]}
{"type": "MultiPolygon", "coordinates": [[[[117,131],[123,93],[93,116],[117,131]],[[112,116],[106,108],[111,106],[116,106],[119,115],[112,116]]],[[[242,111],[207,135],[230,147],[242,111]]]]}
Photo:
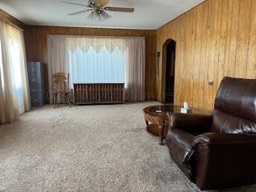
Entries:
{"type": "Polygon", "coordinates": [[[170,156],[201,190],[256,183],[256,80],[223,78],[212,115],[173,122],[170,156]]]}

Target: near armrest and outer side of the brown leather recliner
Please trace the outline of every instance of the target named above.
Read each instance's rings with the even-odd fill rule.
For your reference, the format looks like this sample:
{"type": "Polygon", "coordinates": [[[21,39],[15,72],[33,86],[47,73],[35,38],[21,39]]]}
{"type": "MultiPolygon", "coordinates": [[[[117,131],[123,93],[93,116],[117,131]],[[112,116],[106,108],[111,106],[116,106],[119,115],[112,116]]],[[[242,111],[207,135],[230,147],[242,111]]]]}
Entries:
{"type": "Polygon", "coordinates": [[[194,181],[201,189],[244,186],[256,181],[256,134],[201,134],[194,138],[194,181]]]}

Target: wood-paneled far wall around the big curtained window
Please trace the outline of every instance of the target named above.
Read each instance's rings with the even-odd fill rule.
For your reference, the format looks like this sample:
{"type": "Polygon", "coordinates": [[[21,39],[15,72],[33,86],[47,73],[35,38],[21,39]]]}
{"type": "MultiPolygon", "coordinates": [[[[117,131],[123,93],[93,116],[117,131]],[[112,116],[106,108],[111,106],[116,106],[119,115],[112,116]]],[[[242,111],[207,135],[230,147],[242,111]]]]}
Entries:
{"type": "Polygon", "coordinates": [[[155,99],[156,30],[114,30],[82,27],[27,26],[25,33],[28,61],[48,62],[47,34],[146,37],[146,99],[155,99]]]}

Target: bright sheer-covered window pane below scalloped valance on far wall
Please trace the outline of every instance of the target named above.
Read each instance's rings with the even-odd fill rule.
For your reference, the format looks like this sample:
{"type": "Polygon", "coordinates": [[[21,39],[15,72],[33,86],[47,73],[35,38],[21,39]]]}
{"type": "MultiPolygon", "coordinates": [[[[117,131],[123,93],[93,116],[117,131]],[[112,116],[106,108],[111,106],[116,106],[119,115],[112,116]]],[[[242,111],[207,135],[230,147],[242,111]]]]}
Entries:
{"type": "Polygon", "coordinates": [[[69,50],[70,85],[73,83],[124,83],[125,54],[115,47],[105,46],[96,52],[92,46],[87,52],[69,50]]]}

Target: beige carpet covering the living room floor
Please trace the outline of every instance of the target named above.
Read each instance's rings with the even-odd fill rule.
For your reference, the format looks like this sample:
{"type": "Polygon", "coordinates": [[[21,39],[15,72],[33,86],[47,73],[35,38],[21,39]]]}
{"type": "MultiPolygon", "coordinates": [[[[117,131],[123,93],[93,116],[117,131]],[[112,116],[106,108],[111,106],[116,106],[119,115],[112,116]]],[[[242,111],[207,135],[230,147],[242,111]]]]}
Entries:
{"type": "Polygon", "coordinates": [[[1,125],[0,191],[198,191],[146,132],[155,104],[46,106],[1,125]]]}

